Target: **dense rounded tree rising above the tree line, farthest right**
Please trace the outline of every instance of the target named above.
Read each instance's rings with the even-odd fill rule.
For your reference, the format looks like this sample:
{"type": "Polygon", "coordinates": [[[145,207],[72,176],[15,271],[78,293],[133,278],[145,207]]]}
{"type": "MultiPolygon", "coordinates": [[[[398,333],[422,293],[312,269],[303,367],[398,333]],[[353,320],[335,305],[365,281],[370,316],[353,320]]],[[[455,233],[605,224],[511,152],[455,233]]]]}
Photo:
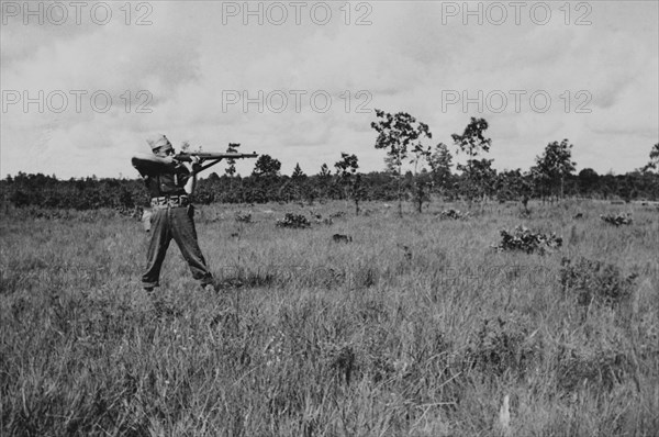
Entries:
{"type": "Polygon", "coordinates": [[[554,191],[557,199],[558,192],[563,197],[566,177],[574,171],[576,163],[571,159],[572,145],[567,138],[560,143],[549,143],[543,155],[536,156],[536,165],[532,167],[532,172],[536,181],[545,187],[545,192],[554,191]]]}

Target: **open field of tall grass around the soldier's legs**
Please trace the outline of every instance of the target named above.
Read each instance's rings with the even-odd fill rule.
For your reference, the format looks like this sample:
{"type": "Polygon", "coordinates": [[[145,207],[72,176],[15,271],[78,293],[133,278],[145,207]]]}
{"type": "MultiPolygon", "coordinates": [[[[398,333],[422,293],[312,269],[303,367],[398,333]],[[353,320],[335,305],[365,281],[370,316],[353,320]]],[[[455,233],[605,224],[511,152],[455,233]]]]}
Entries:
{"type": "Polygon", "coordinates": [[[221,291],[172,244],[154,296],[138,222],[4,211],[1,434],[659,435],[657,206],[364,208],[204,206],[221,291]],[[333,223],[276,227],[310,209],[333,223]],[[492,249],[520,224],[562,247],[492,249]]]}

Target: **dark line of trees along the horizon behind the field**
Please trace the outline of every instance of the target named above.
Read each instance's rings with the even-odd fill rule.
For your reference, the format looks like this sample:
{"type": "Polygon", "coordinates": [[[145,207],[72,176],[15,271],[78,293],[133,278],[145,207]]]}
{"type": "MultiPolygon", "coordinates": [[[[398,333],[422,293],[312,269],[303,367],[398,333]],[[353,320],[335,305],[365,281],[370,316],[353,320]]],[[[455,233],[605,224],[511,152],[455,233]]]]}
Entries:
{"type": "MultiPolygon", "coordinates": [[[[299,164],[293,172],[281,175],[281,161],[261,155],[253,172],[236,175],[235,163],[227,161],[222,176],[216,172],[198,182],[194,201],[210,203],[266,203],[349,200],[356,212],[362,201],[414,202],[421,212],[433,197],[469,202],[554,201],[565,197],[594,199],[659,200],[659,143],[650,149],[649,161],[625,175],[599,175],[592,168],[576,173],[569,139],[549,143],[528,170],[496,171],[488,153],[488,122],[471,117],[461,133],[451,135],[456,154],[466,157],[454,170],[449,146],[427,145],[432,132],[414,116],[376,110],[375,147],[386,152],[383,171],[362,173],[356,155],[342,153],[330,167],[323,164],[306,175],[299,164]],[[403,168],[407,169],[403,171],[403,168]]],[[[237,152],[230,144],[227,152],[237,152]]],[[[36,205],[53,209],[90,210],[98,208],[133,209],[148,205],[141,179],[96,177],[59,180],[55,176],[19,172],[0,181],[5,202],[15,206],[36,205]]]]}

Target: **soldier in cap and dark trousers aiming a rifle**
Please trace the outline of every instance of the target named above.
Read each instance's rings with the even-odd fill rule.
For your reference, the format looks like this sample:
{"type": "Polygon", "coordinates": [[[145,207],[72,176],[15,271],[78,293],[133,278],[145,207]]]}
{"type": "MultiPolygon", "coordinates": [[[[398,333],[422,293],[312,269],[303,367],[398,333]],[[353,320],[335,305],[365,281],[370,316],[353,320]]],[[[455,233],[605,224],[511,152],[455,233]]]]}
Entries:
{"type": "Polygon", "coordinates": [[[144,290],[152,292],[160,284],[160,268],[169,242],[174,238],[188,261],[192,277],[205,290],[213,290],[213,276],[199,248],[194,208],[188,198],[194,191],[199,160],[194,158],[191,163],[178,163],[174,159],[174,147],[165,135],[157,135],[146,142],[153,155],[139,155],[132,159],[133,167],[142,175],[152,198],[152,235],[142,285],[144,290]]]}

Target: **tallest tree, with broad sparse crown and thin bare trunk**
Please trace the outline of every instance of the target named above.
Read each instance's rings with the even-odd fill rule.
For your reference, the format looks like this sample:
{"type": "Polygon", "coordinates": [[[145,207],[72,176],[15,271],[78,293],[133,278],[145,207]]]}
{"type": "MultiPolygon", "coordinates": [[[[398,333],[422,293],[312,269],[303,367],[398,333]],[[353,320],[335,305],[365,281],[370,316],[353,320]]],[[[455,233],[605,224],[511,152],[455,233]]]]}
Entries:
{"type": "Polygon", "coordinates": [[[387,149],[384,163],[390,170],[394,170],[398,175],[399,215],[402,216],[401,179],[403,160],[407,158],[409,147],[413,147],[415,153],[422,152],[421,139],[423,137],[432,138],[433,134],[427,124],[417,122],[415,117],[406,112],[392,115],[377,109],[376,115],[379,120],[371,123],[371,127],[378,132],[376,148],[387,149]]]}

